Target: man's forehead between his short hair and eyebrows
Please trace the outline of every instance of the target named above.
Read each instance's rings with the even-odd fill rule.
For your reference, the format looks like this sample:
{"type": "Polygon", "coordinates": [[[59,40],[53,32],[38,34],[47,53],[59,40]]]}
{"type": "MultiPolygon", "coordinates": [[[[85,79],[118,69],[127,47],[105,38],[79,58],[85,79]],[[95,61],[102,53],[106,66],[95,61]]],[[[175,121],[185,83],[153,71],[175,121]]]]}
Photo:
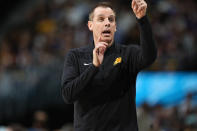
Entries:
{"type": "Polygon", "coordinates": [[[95,8],[94,16],[97,17],[97,16],[100,16],[100,15],[102,15],[102,16],[111,16],[111,15],[115,16],[114,11],[109,7],[97,7],[97,8],[95,8]]]}

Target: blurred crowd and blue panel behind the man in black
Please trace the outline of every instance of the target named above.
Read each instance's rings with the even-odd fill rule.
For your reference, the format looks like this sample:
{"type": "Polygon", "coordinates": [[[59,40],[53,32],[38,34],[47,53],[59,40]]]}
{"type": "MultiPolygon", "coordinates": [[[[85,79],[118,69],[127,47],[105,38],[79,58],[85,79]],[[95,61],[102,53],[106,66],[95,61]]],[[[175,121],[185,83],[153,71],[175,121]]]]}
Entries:
{"type": "MultiPolygon", "coordinates": [[[[0,1],[0,131],[72,131],[64,56],[92,42],[96,0],[0,1]]],[[[118,44],[139,44],[129,0],[113,0],[118,44]]],[[[137,79],[140,131],[197,131],[197,1],[147,0],[157,60],[137,79]]]]}

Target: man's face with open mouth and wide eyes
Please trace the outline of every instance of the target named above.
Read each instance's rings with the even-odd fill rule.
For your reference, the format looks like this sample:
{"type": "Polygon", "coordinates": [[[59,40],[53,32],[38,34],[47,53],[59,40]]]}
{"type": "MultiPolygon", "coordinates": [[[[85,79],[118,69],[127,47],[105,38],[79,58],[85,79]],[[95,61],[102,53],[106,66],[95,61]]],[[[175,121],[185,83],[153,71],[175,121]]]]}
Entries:
{"type": "Polygon", "coordinates": [[[111,8],[97,7],[94,10],[93,20],[88,22],[93,32],[94,43],[106,42],[111,46],[116,31],[115,14],[111,8]]]}

